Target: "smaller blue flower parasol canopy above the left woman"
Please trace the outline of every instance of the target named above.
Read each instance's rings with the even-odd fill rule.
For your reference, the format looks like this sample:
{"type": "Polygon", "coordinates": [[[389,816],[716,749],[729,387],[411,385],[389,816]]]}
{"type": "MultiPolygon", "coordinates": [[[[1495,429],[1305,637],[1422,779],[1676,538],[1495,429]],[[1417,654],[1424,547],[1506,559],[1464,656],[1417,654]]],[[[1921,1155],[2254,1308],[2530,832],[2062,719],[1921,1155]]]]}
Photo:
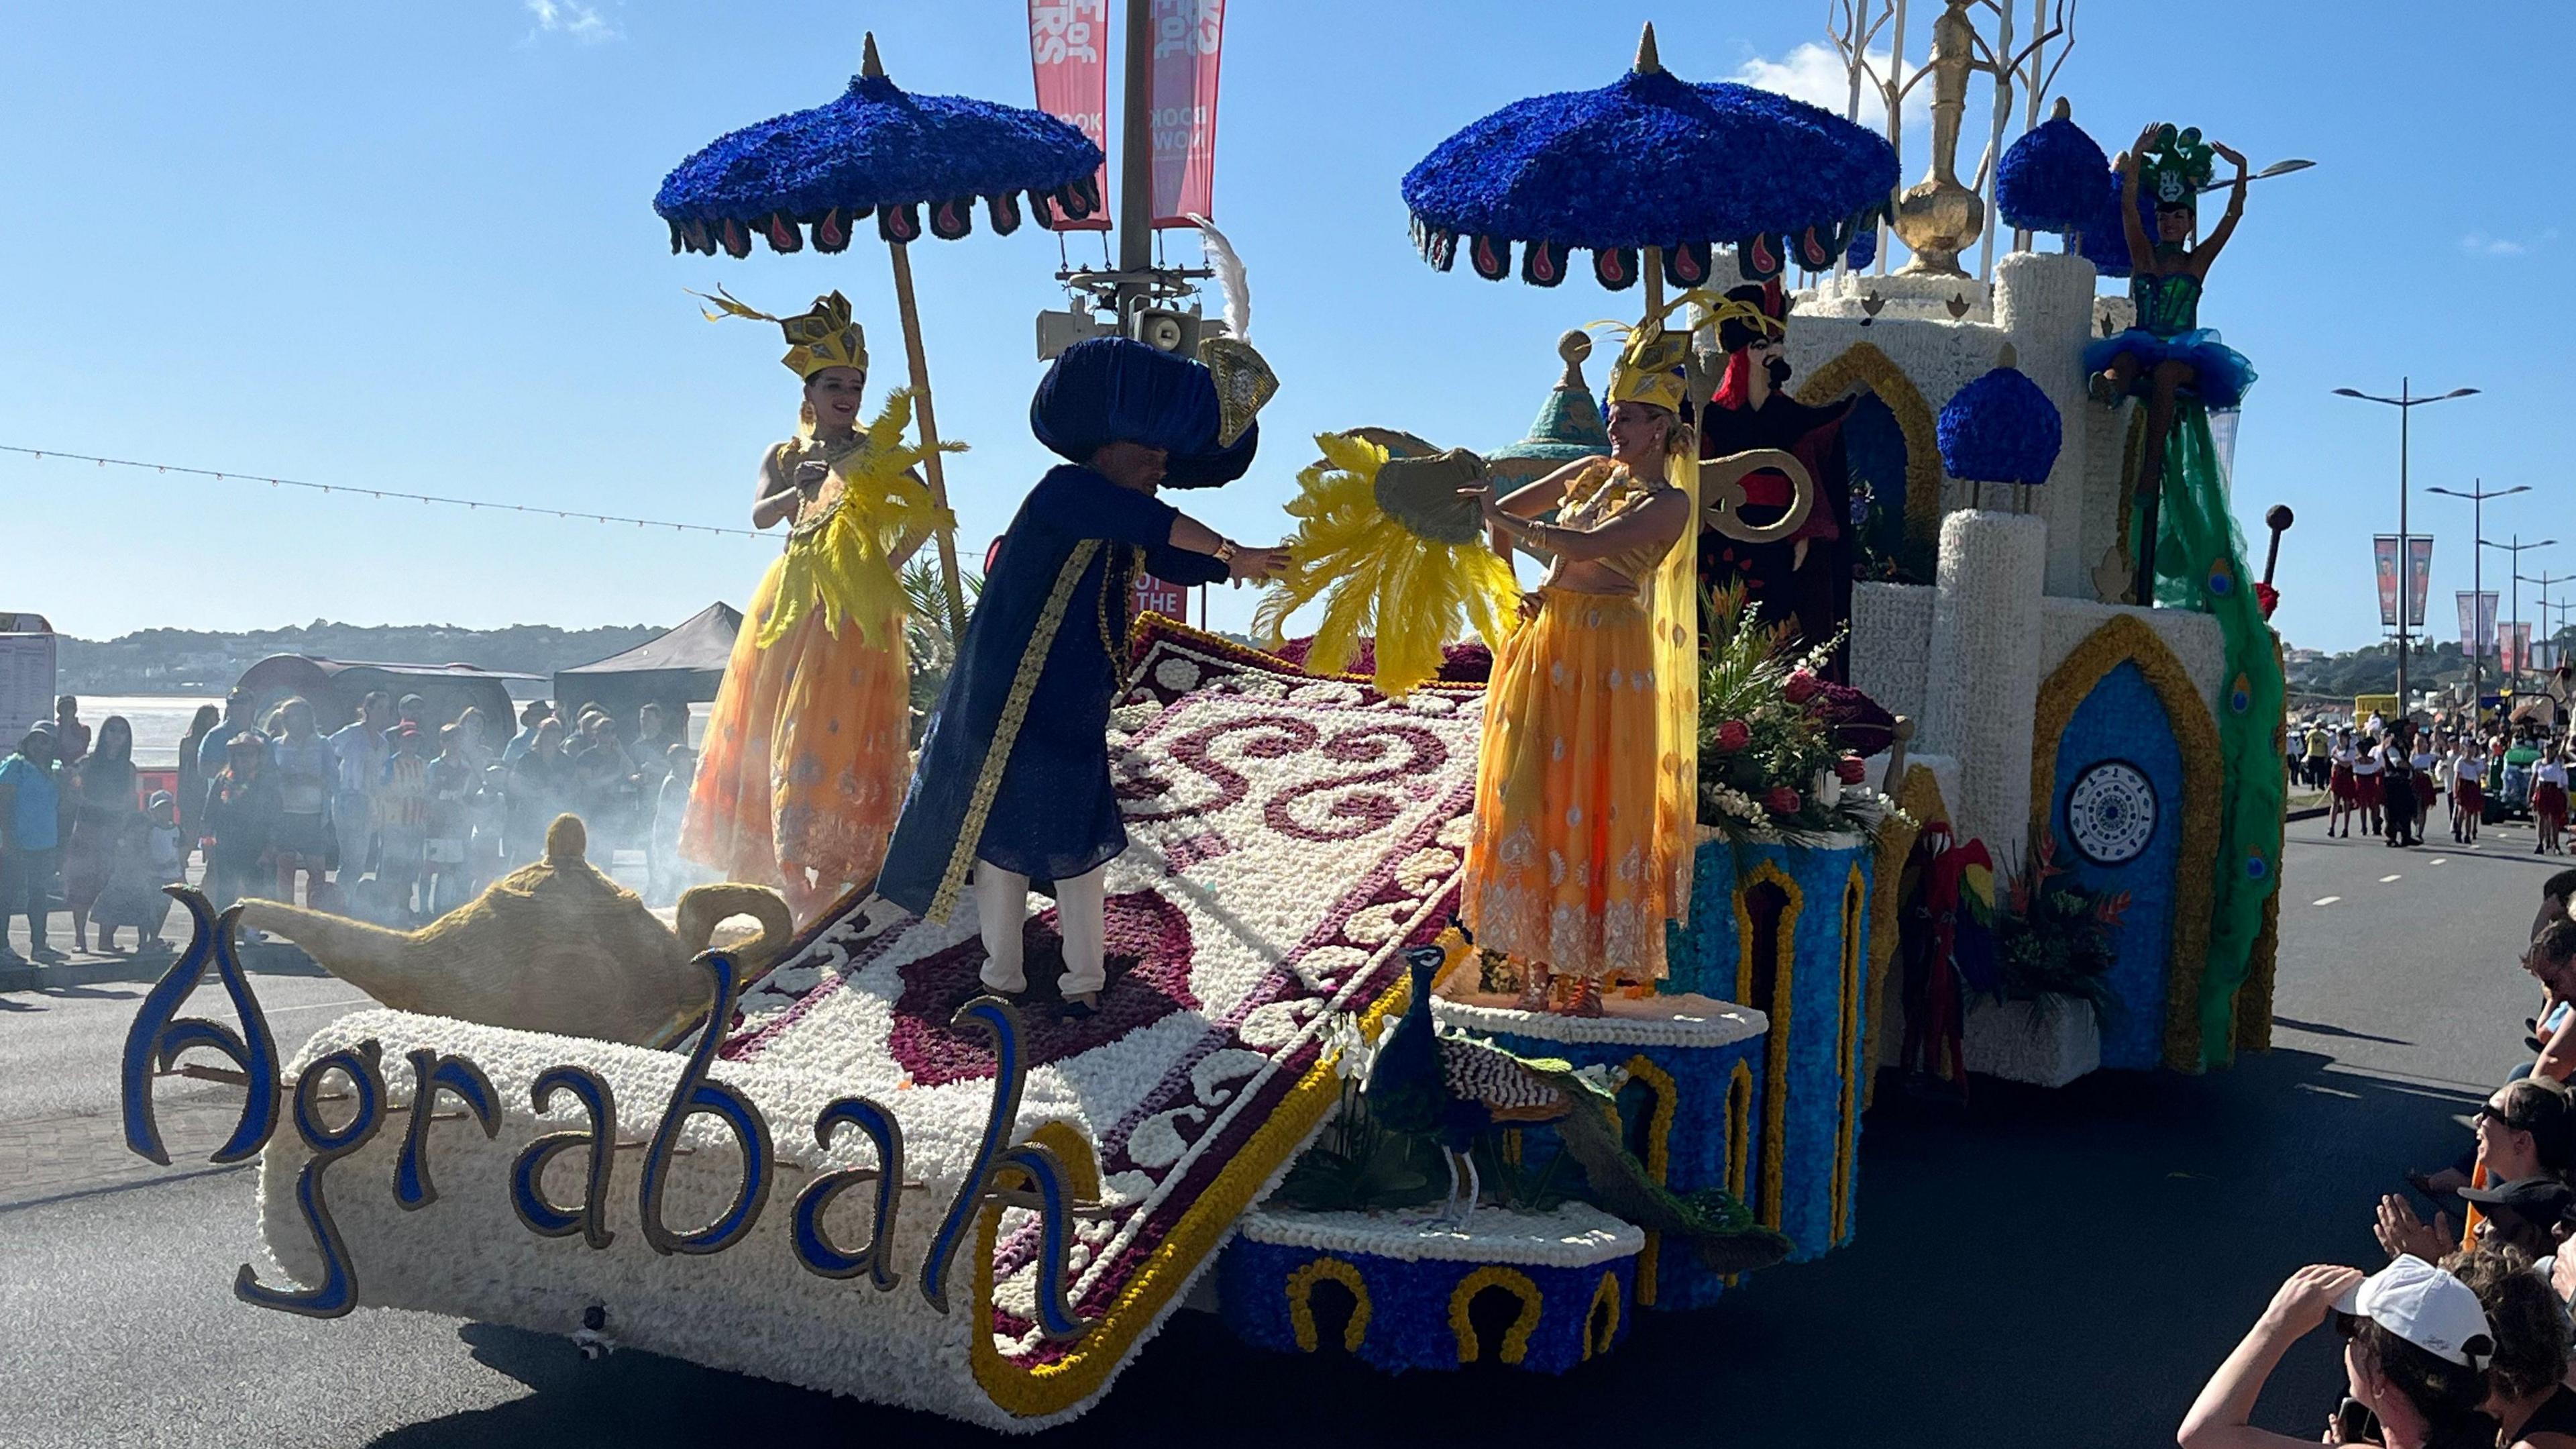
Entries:
{"type": "Polygon", "coordinates": [[[876,214],[876,235],[909,242],[956,240],[974,229],[984,199],[992,229],[1020,229],[1020,193],[1041,227],[1100,209],[1100,147],[1046,111],[966,95],[912,95],[886,80],[868,36],[866,70],[827,106],[791,111],[716,137],[683,160],[652,209],[670,222],[670,250],[750,255],[850,245],[853,224],[876,214]]]}

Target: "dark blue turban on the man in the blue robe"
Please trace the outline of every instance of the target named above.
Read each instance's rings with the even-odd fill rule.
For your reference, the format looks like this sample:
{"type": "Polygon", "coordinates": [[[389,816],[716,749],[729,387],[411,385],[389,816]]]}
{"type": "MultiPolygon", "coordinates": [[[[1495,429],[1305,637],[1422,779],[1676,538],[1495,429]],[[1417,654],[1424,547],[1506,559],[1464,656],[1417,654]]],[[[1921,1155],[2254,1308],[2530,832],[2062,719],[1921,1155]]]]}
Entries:
{"type": "Polygon", "coordinates": [[[1244,477],[1260,423],[1234,446],[1216,443],[1216,374],[1180,353],[1128,338],[1074,343],[1028,400],[1028,431],[1077,464],[1108,443],[1164,451],[1164,487],[1218,487],[1244,477]]]}

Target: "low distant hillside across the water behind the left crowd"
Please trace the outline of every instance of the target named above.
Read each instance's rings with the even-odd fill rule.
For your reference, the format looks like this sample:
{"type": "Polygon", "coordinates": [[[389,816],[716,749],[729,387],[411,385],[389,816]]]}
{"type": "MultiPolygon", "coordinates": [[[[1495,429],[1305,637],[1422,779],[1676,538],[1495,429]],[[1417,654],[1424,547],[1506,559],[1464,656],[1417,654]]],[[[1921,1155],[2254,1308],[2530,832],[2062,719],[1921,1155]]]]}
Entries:
{"type": "Polygon", "coordinates": [[[222,694],[245,668],[268,655],[319,655],[381,665],[474,665],[551,676],[631,650],[662,629],[667,624],[456,629],[451,624],[361,627],[327,619],[227,634],[142,629],[106,642],[64,637],[57,688],[64,694],[222,694]]]}

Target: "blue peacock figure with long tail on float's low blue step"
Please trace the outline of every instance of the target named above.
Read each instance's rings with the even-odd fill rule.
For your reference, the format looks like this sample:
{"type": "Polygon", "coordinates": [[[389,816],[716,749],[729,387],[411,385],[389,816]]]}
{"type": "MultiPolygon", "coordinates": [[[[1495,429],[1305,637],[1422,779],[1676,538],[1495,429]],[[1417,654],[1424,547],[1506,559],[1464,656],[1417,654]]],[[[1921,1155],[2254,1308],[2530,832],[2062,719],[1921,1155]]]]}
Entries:
{"type": "Polygon", "coordinates": [[[1548,1124],[1584,1171],[1595,1204],[1669,1240],[1687,1240],[1708,1271],[1744,1274],[1788,1256],[1790,1240],[1754,1222],[1731,1194],[1674,1194],[1654,1181],[1623,1140],[1618,1098],[1571,1062],[1522,1057],[1473,1036],[1443,1036],[1432,1024],[1432,980],[1445,951],[1414,946],[1404,959],[1412,1000],[1378,1044],[1363,1101],[1383,1127],[1440,1142],[1450,1163],[1448,1212],[1455,1220],[1473,1212],[1479,1196],[1468,1145],[1494,1124],[1548,1124]]]}

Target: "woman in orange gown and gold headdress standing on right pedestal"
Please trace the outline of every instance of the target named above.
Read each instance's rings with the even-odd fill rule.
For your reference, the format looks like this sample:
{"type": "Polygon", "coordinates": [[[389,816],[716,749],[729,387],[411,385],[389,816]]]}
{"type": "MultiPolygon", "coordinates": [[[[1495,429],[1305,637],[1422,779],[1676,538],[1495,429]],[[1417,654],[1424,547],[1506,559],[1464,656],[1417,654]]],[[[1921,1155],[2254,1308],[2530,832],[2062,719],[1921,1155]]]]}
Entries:
{"type": "Polygon", "coordinates": [[[1461,900],[1476,944],[1522,969],[1528,1011],[1597,1016],[1602,982],[1664,977],[1664,923],[1690,913],[1700,647],[1685,348],[1659,317],[1628,333],[1607,459],[1502,500],[1476,490],[1497,549],[1517,539],[1556,559],[1494,657],[1461,900]],[[1556,523],[1530,518],[1548,508],[1556,523]],[[1564,1000],[1553,977],[1571,977],[1564,1000]]]}

